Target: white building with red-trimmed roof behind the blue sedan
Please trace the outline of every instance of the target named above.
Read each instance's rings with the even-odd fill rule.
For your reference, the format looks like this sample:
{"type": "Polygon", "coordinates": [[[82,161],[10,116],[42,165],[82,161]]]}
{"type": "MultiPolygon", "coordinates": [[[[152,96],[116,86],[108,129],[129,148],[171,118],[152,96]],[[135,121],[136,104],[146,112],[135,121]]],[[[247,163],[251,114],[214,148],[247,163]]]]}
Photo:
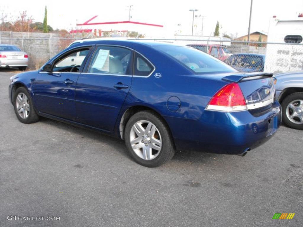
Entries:
{"type": "Polygon", "coordinates": [[[127,32],[136,31],[145,37],[155,37],[163,31],[163,25],[143,23],[138,21],[107,21],[98,22],[98,16],[90,18],[84,23],[78,23],[77,28],[70,33],[93,33],[95,36],[105,36],[110,33],[115,36],[125,36],[127,32]]]}

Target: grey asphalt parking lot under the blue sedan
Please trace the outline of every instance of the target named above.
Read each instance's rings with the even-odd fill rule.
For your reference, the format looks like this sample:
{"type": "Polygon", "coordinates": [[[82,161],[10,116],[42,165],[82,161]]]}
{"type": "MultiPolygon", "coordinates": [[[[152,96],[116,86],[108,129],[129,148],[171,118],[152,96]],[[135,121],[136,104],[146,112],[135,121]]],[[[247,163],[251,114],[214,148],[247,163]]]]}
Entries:
{"type": "Polygon", "coordinates": [[[0,71],[0,226],[302,225],[302,131],[282,126],[245,157],[178,151],[150,169],[124,141],[45,118],[20,123],[12,75],[0,71]]]}

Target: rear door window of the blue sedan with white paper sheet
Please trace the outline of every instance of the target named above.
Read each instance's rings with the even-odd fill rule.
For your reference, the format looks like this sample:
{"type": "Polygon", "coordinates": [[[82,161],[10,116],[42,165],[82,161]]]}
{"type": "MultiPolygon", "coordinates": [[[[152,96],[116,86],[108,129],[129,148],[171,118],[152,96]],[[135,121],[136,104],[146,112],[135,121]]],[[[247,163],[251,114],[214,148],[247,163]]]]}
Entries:
{"type": "Polygon", "coordinates": [[[122,47],[100,46],[88,66],[88,73],[131,75],[132,51],[122,47]]]}

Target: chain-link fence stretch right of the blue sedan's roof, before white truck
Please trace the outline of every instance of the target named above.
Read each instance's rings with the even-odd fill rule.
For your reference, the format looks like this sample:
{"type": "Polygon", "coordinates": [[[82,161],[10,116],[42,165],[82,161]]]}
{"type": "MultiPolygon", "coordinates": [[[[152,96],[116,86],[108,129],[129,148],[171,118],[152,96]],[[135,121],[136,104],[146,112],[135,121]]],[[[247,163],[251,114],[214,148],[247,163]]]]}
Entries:
{"type": "Polygon", "coordinates": [[[303,44],[226,40],[153,39],[186,45],[208,53],[241,72],[286,72],[303,70],[303,44]]]}

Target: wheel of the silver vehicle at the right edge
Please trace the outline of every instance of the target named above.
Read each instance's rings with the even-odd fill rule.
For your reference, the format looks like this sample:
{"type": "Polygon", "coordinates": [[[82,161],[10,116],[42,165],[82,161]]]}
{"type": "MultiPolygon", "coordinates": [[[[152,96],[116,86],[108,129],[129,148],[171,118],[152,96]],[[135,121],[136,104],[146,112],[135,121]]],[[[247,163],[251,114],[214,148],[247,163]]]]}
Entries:
{"type": "Polygon", "coordinates": [[[288,95],[281,106],[285,125],[293,129],[303,130],[303,92],[288,95]]]}

